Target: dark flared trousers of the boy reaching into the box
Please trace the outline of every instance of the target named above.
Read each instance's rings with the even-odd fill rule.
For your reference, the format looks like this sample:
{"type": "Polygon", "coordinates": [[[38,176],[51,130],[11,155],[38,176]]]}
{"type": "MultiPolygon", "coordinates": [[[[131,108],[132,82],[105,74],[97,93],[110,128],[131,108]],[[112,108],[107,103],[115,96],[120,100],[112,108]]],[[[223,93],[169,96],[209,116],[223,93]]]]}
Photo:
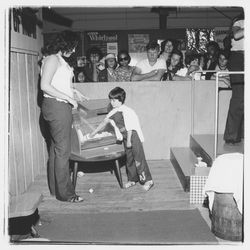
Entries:
{"type": "Polygon", "coordinates": [[[142,143],[136,131],[132,131],[131,137],[131,148],[127,148],[127,137],[124,136],[125,152],[127,157],[127,175],[128,181],[139,181],[139,175],[144,171],[146,181],[152,180],[151,173],[147,161],[145,159],[145,154],[143,150],[142,143]]]}

